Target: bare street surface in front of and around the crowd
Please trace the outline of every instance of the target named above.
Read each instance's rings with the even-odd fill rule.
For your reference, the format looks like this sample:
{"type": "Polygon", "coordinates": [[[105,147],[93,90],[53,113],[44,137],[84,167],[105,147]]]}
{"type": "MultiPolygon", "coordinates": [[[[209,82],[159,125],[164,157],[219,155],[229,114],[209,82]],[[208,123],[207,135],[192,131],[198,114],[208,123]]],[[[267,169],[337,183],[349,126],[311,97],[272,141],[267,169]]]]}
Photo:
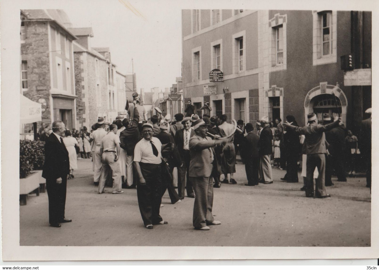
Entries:
{"type": "Polygon", "coordinates": [[[66,217],[72,223],[49,227],[47,193],[29,195],[20,206],[20,246],[370,246],[371,195],[363,177],[327,187],[327,199],[306,198],[299,183],[280,181],[246,187],[244,165],[237,164],[236,185],[214,190],[213,215],[221,225],[210,231],[192,226],[194,199],[172,205],[163,196],[167,225],[143,226],[135,189],[97,194],[91,159],[67,183],[66,217]]]}

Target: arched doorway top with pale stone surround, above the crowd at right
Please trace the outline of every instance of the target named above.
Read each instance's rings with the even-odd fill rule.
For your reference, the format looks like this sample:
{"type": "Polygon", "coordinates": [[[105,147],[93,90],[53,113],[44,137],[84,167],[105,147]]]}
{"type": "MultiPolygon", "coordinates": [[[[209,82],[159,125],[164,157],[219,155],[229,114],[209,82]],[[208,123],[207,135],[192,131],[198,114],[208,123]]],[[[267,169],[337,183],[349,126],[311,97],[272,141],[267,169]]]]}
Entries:
{"type": "Polygon", "coordinates": [[[307,124],[307,115],[314,112],[320,121],[323,121],[323,114],[329,113],[332,116],[338,113],[342,121],[346,123],[347,99],[345,93],[335,85],[320,83],[311,89],[304,101],[305,124],[307,124]],[[332,95],[334,92],[335,95],[332,95]]]}

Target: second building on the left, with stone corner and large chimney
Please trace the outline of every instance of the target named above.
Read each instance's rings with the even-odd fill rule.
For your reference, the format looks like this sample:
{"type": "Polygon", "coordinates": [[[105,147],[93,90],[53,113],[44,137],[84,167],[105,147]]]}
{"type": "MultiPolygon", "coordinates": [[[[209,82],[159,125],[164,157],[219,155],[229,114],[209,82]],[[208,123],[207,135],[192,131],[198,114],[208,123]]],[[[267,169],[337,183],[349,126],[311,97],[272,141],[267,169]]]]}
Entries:
{"type": "Polygon", "coordinates": [[[112,122],[117,116],[116,65],[110,53],[100,53],[90,47],[92,28],[70,28],[77,35],[74,42],[75,88],[77,91],[77,129],[90,129],[99,116],[112,122]]]}

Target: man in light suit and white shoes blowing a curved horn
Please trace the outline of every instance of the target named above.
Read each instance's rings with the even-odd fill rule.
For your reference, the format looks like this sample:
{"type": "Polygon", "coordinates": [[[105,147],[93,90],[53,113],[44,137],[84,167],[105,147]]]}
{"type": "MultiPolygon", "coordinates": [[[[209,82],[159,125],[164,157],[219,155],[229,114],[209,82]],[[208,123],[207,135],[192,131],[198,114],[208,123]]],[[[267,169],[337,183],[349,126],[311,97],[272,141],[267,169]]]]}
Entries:
{"type": "Polygon", "coordinates": [[[207,225],[219,225],[213,218],[213,166],[217,166],[213,147],[230,142],[230,138],[212,140],[207,137],[207,124],[199,119],[193,123],[196,135],[189,140],[191,162],[189,177],[193,183],[196,198],[193,207],[193,226],[197,230],[208,231],[207,225]]]}

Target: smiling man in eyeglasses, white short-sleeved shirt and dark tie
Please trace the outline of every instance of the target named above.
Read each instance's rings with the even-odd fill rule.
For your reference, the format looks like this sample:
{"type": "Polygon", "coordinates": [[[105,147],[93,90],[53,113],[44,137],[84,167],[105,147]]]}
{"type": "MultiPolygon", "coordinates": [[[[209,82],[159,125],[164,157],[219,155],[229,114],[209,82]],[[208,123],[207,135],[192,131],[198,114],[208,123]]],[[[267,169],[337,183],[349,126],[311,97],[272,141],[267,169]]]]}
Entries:
{"type": "Polygon", "coordinates": [[[161,196],[161,148],[158,138],[153,137],[153,125],[142,126],[143,139],[134,148],[134,166],[137,172],[137,198],[144,226],[167,224],[159,215],[161,196]]]}

